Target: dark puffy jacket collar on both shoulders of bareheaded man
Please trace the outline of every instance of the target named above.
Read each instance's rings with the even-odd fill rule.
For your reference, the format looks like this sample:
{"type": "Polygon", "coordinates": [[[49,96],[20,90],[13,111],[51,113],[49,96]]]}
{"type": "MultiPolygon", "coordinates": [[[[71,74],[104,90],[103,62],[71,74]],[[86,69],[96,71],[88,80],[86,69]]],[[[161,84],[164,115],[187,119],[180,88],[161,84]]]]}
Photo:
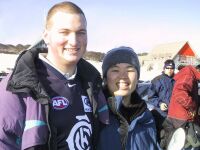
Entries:
{"type": "MultiPolygon", "coordinates": [[[[32,97],[42,104],[48,103],[47,92],[42,87],[37,77],[35,60],[39,53],[47,52],[46,48],[32,48],[23,51],[16,60],[15,67],[8,81],[7,90],[13,93],[30,93],[32,97]]],[[[84,86],[88,88],[87,82],[97,80],[101,83],[100,73],[91,64],[81,59],[77,65],[78,72],[84,86]],[[92,76],[91,76],[92,75],[92,76]]],[[[86,89],[87,89],[86,88],[86,89]]]]}

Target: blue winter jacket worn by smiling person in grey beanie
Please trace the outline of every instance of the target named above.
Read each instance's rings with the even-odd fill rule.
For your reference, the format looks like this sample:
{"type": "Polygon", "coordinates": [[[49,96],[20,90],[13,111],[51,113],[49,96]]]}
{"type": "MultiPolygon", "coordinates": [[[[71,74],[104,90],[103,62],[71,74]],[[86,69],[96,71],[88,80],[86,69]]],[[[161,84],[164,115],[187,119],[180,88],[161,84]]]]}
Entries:
{"type": "MultiPolygon", "coordinates": [[[[135,96],[134,96],[135,97],[135,96]]],[[[141,99],[133,99],[135,105],[130,119],[120,111],[115,98],[108,98],[110,124],[100,132],[98,150],[159,150],[156,126],[151,112],[141,99]]],[[[128,108],[130,109],[130,108],[128,108]]]]}

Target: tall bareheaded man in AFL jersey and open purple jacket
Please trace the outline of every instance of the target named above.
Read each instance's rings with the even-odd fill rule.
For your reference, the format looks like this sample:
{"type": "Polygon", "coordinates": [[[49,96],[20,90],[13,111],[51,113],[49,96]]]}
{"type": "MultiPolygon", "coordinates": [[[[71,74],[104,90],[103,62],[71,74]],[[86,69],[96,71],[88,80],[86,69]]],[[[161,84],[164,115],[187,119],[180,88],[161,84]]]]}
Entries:
{"type": "Polygon", "coordinates": [[[2,149],[95,149],[99,120],[108,112],[100,73],[82,59],[87,46],[83,11],[71,2],[48,12],[44,51],[24,51],[0,84],[2,149]]]}

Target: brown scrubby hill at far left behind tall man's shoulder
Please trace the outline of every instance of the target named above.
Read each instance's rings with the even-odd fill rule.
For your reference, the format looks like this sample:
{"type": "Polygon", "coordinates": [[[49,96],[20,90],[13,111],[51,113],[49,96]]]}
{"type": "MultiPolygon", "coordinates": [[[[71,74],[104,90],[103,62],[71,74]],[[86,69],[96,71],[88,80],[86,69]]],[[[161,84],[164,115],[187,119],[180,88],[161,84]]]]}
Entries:
{"type": "Polygon", "coordinates": [[[23,51],[30,47],[30,45],[22,45],[22,44],[17,44],[17,45],[11,45],[11,44],[1,44],[0,43],[0,53],[5,53],[5,54],[18,54],[20,51],[23,51]]]}

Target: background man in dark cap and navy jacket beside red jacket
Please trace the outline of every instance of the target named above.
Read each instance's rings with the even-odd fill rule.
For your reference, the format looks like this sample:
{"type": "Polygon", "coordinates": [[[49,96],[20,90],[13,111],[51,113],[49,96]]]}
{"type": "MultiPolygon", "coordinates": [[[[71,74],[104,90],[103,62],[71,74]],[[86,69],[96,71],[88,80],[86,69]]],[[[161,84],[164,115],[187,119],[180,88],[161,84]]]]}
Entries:
{"type": "Polygon", "coordinates": [[[166,60],[162,74],[151,81],[152,84],[148,91],[148,103],[154,106],[152,113],[156,121],[158,136],[168,112],[168,105],[174,85],[174,69],[174,61],[171,59],[166,60]]]}

